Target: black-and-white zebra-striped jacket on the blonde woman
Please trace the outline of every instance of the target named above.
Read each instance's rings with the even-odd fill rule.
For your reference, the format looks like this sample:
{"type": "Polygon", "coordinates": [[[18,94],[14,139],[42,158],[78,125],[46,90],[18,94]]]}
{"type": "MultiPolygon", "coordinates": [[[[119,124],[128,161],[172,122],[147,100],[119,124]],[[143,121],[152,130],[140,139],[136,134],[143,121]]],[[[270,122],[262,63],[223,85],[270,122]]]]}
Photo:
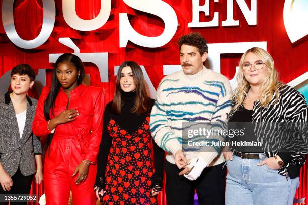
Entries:
{"type": "MultiPolygon", "coordinates": [[[[279,155],[283,160],[284,166],[278,170],[278,174],[286,177],[290,176],[290,178],[296,178],[299,176],[300,167],[305,163],[306,154],[308,154],[308,106],[303,95],[288,85],[280,85],[278,87],[278,92],[278,102],[275,104],[274,94],[267,108],[261,106],[259,100],[254,102],[252,122],[255,126],[263,126],[262,132],[256,132],[256,130],[260,130],[260,128],[257,128],[258,126],[256,126],[255,134],[257,140],[261,142],[262,149],[266,156],[274,157],[279,155]],[[281,128],[281,126],[279,129],[275,126],[274,128],[265,128],[264,126],[270,127],[275,124],[268,122],[283,122],[284,125],[288,122],[302,122],[302,125],[304,126],[301,126],[300,130],[293,129],[288,131],[286,127],[281,128]],[[288,135],[287,139],[289,142],[286,142],[286,138],[277,137],[283,135],[288,135]],[[295,136],[298,137],[299,135],[300,140],[297,140],[295,136]],[[298,142],[296,142],[296,140],[298,142]],[[287,144],[287,149],[281,149],[281,147],[286,147],[282,144],[287,144]]],[[[234,105],[235,101],[233,100],[233,106],[234,105]]],[[[232,111],[229,118],[234,113],[235,111],[232,111]]],[[[278,123],[276,123],[276,126],[279,126],[278,123]]]]}

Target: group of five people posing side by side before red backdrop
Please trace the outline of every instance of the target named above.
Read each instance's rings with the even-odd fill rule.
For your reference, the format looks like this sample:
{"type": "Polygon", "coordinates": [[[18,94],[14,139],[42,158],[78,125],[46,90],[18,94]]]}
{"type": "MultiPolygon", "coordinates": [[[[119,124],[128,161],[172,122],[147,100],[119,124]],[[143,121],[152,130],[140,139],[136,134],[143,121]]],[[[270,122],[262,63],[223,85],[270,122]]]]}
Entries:
{"type": "MultiPolygon", "coordinates": [[[[27,96],[35,80],[31,66],[14,67],[11,91],[0,96],[0,194],[29,194],[35,174],[36,183],[44,179],[47,204],[67,204],[70,192],[73,204],[158,204],[164,167],[168,205],[193,204],[195,191],[199,204],[292,204],[305,151],[269,151],[275,139],[268,130],[262,131],[266,146],[255,150],[213,144],[187,150],[183,132],[199,122],[243,122],[240,128],[307,122],[304,97],[278,81],[261,48],[243,54],[232,91],[225,76],[204,66],[208,47],[199,33],[182,36],[178,45],[182,70],[162,79],[156,99],[147,94],[140,66],[125,61],[106,106],[101,88],[83,84],[76,55],[57,59],[51,87],[38,101],[27,96]]],[[[244,139],[263,138],[246,130],[234,140],[244,139]]]]}

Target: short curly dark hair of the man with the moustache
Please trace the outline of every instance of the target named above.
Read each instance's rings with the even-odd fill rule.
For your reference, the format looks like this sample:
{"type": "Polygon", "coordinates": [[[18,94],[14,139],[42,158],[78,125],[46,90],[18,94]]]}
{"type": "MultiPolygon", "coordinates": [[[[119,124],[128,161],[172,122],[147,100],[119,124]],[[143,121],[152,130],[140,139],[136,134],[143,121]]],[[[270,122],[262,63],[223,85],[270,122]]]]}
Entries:
{"type": "Polygon", "coordinates": [[[203,53],[208,53],[206,40],[199,32],[191,32],[189,34],[181,36],[181,38],[178,41],[180,51],[181,51],[181,46],[183,44],[197,47],[201,55],[203,55],[203,53]]]}

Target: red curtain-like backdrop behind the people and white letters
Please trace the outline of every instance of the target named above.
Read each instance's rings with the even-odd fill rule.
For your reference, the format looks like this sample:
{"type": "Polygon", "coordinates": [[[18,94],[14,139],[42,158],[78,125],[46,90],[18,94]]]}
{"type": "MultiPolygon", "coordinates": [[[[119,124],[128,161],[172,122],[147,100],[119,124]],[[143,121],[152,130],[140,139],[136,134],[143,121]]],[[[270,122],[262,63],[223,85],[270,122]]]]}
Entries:
{"type": "MultiPolygon", "coordinates": [[[[64,0],[63,0],[64,1],[64,0]]],[[[245,0],[250,7],[250,0],[245,0]]],[[[70,37],[80,48],[81,53],[108,52],[109,82],[102,83],[98,68],[86,63],[86,73],[90,74],[90,85],[105,89],[106,102],[112,99],[114,93],[114,66],[124,60],[134,60],[144,65],[151,82],[157,88],[163,78],[163,65],[179,64],[179,52],[176,45],[178,38],[190,31],[199,31],[208,43],[252,42],[266,41],[267,50],[271,53],[282,82],[289,82],[306,72],[308,67],[306,51],[308,48],[307,36],[298,42],[291,43],[283,23],[284,1],[257,1],[257,25],[249,26],[234,1],[234,19],[239,20],[240,26],[222,27],[221,21],[227,18],[227,1],[218,3],[210,1],[210,15],[206,17],[200,13],[200,21],[212,20],[213,13],[219,12],[219,27],[188,28],[192,19],[191,0],[165,0],[176,12],[178,28],[169,43],[160,48],[144,48],[131,42],[126,48],[119,48],[119,13],[128,13],[133,28],[142,35],[159,36],[164,31],[164,22],[155,15],[134,10],[123,1],[112,1],[111,14],[107,23],[95,31],[78,31],[70,28],[62,15],[62,1],[55,1],[56,19],[51,36],[43,45],[35,49],[21,49],[15,46],[7,37],[4,27],[0,24],[0,76],[21,63],[30,64],[36,71],[48,68],[46,84],[51,83],[52,64],[48,54],[74,51],[58,42],[60,37],[70,37]]],[[[0,0],[2,5],[3,0],[0,0]]],[[[203,5],[205,0],[200,0],[203,5]]],[[[76,0],[76,12],[82,19],[92,19],[101,9],[100,0],[76,0]]],[[[43,19],[43,6],[40,0],[14,1],[14,22],[19,36],[31,40],[40,33],[43,19]]],[[[0,21],[2,21],[0,17],[0,21]]],[[[211,52],[211,51],[209,51],[211,52]]],[[[235,67],[241,54],[221,55],[221,73],[229,79],[234,76],[235,67]]],[[[32,93],[33,96],[36,93],[32,93]]],[[[300,188],[297,198],[307,194],[307,167],[301,170],[300,188]]],[[[33,186],[32,191],[41,195],[42,186],[33,186]]],[[[161,196],[161,204],[164,202],[161,196]]]]}

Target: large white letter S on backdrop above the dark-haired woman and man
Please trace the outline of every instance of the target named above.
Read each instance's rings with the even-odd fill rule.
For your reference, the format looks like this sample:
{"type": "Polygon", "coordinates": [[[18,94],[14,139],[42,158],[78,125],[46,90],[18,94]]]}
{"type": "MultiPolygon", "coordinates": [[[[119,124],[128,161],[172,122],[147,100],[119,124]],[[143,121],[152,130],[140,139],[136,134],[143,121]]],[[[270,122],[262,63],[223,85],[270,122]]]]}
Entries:
{"type": "Polygon", "coordinates": [[[126,47],[131,41],[139,46],[157,48],[168,43],[178,27],[178,18],[170,5],[162,0],[123,0],[133,9],[156,15],[163,19],[165,29],[160,36],[148,37],[137,33],[128,20],[127,13],[120,13],[120,47],[126,47]]]}

